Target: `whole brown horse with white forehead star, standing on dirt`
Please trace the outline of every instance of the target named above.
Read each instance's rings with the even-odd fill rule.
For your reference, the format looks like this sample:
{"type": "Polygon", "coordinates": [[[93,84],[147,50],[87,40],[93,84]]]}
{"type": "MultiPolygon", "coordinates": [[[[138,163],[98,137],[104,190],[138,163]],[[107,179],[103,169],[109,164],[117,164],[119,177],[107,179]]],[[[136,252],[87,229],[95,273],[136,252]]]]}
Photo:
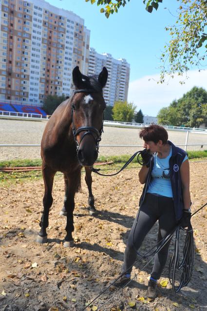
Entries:
{"type": "Polygon", "coordinates": [[[73,212],[75,192],[80,188],[81,168],[86,171],[90,211],[94,212],[90,167],[98,156],[98,144],[103,131],[103,112],[106,107],[103,87],[108,78],[105,67],[97,78],[84,76],[78,66],[73,70],[75,92],[62,102],[49,119],[41,140],[42,175],[44,179],[43,213],[37,242],[47,242],[49,210],[53,203],[52,189],[56,172],[65,180],[65,199],[61,214],[67,215],[65,247],[74,245],[73,212]]]}

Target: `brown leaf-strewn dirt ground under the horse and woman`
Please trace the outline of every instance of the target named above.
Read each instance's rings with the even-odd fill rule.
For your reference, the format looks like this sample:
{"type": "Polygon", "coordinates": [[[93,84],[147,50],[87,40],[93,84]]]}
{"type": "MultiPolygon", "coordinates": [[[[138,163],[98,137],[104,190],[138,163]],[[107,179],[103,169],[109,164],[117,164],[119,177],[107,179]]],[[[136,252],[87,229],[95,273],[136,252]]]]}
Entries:
{"type": "MultiPolygon", "coordinates": [[[[33,123],[30,123],[33,124],[33,123]]],[[[41,123],[40,123],[41,124],[41,123]]],[[[108,129],[106,129],[106,132],[108,129]]],[[[25,136],[26,137],[26,136],[25,136]]],[[[207,201],[207,162],[190,164],[192,210],[207,201]]],[[[47,244],[35,242],[42,210],[43,181],[32,180],[0,187],[0,310],[1,311],[81,311],[118,276],[142,186],[138,169],[127,169],[115,177],[94,175],[96,217],[87,211],[87,188],[82,176],[82,192],[75,196],[75,247],[65,249],[66,219],[59,215],[64,190],[63,178],[56,176],[54,203],[49,217],[47,244]]],[[[151,264],[136,264],[137,276],[125,289],[107,291],[94,302],[102,311],[189,311],[207,310],[207,208],[192,218],[194,229],[193,277],[175,294],[168,281],[162,296],[146,298],[151,264]],[[144,298],[143,298],[144,297],[144,298]],[[111,298],[110,301],[108,299],[111,298]],[[129,302],[135,302],[131,308],[129,302]],[[104,306],[101,305],[106,302],[104,306]],[[120,309],[119,309],[120,308],[120,309]]],[[[146,237],[141,251],[156,243],[157,226],[146,237]]],[[[181,249],[183,242],[180,243],[181,249]]],[[[173,243],[172,243],[173,246],[173,243]]],[[[169,254],[172,254],[170,247],[169,254]]],[[[168,266],[161,280],[168,279],[168,266]]]]}

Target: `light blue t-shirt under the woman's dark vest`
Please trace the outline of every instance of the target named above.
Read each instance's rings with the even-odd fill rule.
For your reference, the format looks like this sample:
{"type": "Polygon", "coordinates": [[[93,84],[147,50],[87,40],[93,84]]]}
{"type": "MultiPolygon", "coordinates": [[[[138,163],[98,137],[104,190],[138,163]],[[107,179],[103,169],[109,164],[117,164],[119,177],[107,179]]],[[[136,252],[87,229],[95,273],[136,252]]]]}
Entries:
{"type": "MultiPolygon", "coordinates": [[[[172,197],[172,187],[169,175],[169,158],[171,155],[172,148],[170,149],[169,155],[163,159],[160,159],[157,154],[154,156],[154,166],[151,172],[151,182],[147,193],[172,197]]],[[[187,159],[188,156],[186,155],[183,162],[187,159]]]]}

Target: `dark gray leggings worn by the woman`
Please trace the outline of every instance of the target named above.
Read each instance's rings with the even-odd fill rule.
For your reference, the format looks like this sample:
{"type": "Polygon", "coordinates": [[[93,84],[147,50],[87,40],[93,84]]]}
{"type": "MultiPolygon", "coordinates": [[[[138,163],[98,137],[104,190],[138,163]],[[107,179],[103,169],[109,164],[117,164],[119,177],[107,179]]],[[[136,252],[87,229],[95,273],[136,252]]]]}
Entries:
{"type": "MultiPolygon", "coordinates": [[[[159,242],[170,233],[176,225],[172,198],[162,195],[146,194],[145,200],[136,215],[127,241],[122,272],[127,271],[127,273],[131,273],[131,266],[135,262],[137,256],[136,250],[140,248],[146,234],[151,230],[157,220],[159,221],[157,242],[159,242]]],[[[165,267],[168,258],[169,244],[170,241],[159,253],[156,253],[154,257],[151,277],[156,280],[160,278],[165,267]]],[[[153,245],[150,245],[149,248],[152,246],[153,245]]]]}

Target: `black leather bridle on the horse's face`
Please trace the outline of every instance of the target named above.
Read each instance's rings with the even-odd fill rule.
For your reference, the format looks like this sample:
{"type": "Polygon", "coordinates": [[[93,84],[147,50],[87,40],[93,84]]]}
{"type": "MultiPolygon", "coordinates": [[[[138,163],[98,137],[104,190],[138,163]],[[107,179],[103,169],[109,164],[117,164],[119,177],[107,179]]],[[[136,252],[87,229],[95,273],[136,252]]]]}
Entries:
{"type": "MultiPolygon", "coordinates": [[[[74,92],[74,95],[76,93],[97,93],[97,91],[93,90],[93,89],[82,89],[82,90],[76,90],[74,92]]],[[[78,149],[79,149],[79,146],[80,146],[80,143],[81,141],[83,140],[83,138],[86,136],[86,135],[92,135],[94,140],[95,140],[95,147],[96,147],[96,150],[98,152],[98,149],[99,149],[99,142],[101,141],[101,134],[103,133],[103,123],[102,123],[102,126],[101,126],[101,129],[100,131],[98,131],[96,128],[92,127],[92,126],[81,126],[79,127],[77,130],[75,130],[75,124],[74,124],[74,110],[75,110],[75,106],[74,106],[74,103],[72,102],[72,105],[71,105],[71,117],[72,117],[72,129],[73,129],[73,136],[74,136],[74,139],[75,139],[75,144],[76,144],[76,152],[78,152],[78,149]],[[80,139],[80,142],[78,143],[77,139],[76,139],[76,136],[80,133],[80,132],[83,132],[83,131],[86,131],[83,136],[81,137],[80,139]],[[95,134],[95,137],[94,137],[94,134],[95,134]]],[[[103,119],[103,122],[104,122],[104,119],[103,119]]]]}

